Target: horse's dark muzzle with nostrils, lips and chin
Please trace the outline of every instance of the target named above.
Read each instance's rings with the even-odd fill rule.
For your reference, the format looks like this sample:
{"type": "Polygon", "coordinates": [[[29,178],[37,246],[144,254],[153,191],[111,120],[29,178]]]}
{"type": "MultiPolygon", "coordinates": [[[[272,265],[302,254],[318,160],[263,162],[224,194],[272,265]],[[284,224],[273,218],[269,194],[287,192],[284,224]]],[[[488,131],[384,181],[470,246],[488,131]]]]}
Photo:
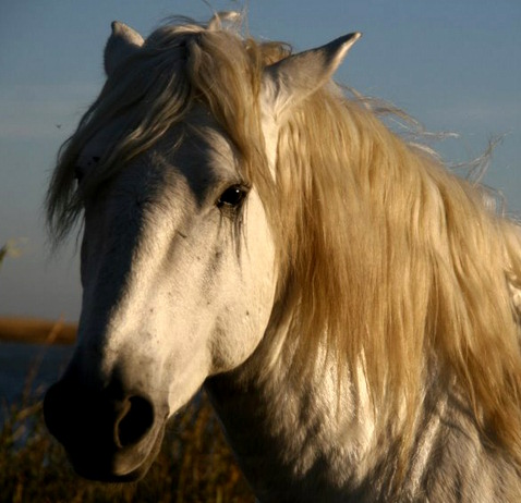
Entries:
{"type": "Polygon", "coordinates": [[[165,434],[166,407],[121,387],[82,390],[64,377],[44,401],[47,428],[63,444],[74,469],[92,480],[123,482],[142,478],[165,434]]]}

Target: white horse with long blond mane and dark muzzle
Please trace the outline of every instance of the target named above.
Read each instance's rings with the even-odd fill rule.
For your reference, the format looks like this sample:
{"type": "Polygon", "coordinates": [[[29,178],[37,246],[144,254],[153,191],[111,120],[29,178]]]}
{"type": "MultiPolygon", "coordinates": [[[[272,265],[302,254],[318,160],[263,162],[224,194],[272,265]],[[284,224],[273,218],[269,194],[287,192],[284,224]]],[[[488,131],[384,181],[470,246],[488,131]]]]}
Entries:
{"type": "Polygon", "coordinates": [[[332,81],[359,33],[244,32],[112,24],[46,199],[83,230],[48,429],[136,480],[204,388],[259,501],[521,501],[519,225],[332,81]]]}

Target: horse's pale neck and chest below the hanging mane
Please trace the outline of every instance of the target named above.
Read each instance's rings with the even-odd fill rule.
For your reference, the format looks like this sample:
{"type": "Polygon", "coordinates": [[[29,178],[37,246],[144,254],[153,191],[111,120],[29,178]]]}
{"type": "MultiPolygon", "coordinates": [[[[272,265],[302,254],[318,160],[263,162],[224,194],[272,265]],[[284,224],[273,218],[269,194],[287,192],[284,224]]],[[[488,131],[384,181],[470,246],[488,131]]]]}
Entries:
{"type": "Polygon", "coordinates": [[[424,383],[411,462],[397,484],[402,422],[376,428],[361,372],[347,370],[349,384],[339,389],[326,352],[306,379],[288,365],[291,347],[275,360],[272,353],[267,338],[242,367],[205,383],[259,501],[519,501],[511,499],[521,494],[517,474],[485,449],[467,398],[436,371],[424,383]]]}

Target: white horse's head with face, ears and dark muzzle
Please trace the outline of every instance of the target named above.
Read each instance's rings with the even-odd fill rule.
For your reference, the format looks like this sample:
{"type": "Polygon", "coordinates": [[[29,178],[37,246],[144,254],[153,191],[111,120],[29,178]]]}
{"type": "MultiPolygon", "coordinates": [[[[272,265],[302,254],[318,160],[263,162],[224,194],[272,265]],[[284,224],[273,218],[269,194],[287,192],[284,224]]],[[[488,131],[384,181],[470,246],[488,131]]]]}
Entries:
{"type": "MultiPolygon", "coordinates": [[[[77,181],[70,200],[81,201],[84,214],[83,300],[77,346],[44,409],[75,469],[92,479],[142,477],[168,418],[206,378],[239,367],[255,352],[278,284],[274,211],[263,199],[275,191],[276,128],[294,102],[329,79],[358,38],[342,37],[262,71],[257,94],[252,90],[260,112],[241,111],[258,125],[252,151],[260,152],[267,169],[254,174],[228,118],[216,116],[217,105],[186,84],[189,71],[208,57],[201,39],[231,36],[189,32],[144,41],[132,28],[112,25],[106,88],[54,174],[50,200],[59,199],[63,180],[77,181]],[[147,87],[143,62],[166,48],[173,54],[166,59],[170,74],[158,71],[154,78],[166,78],[190,105],[170,103],[175,97],[166,97],[165,85],[158,86],[162,94],[147,87]],[[146,108],[161,99],[157,109],[146,108]],[[163,127],[161,113],[181,119],[170,118],[163,127]]],[[[232,57],[245,51],[235,38],[232,57]]]]}

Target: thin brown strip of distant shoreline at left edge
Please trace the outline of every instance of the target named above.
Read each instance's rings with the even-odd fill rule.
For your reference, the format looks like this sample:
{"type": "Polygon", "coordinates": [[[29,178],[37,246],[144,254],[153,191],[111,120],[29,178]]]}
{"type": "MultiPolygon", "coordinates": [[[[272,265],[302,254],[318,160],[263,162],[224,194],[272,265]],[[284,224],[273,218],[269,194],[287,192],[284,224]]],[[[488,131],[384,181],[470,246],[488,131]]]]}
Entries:
{"type": "Polygon", "coordinates": [[[22,317],[0,317],[0,341],[26,344],[73,344],[76,323],[22,317]]]}

